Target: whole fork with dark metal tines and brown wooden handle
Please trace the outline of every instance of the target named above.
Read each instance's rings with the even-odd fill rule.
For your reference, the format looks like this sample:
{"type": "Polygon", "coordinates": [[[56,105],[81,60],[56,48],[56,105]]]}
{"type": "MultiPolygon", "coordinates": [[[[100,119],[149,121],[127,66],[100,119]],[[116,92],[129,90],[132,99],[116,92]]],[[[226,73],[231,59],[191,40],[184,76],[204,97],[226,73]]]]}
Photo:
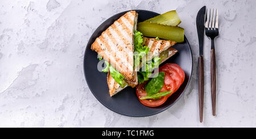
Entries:
{"type": "Polygon", "coordinates": [[[210,47],[210,90],[212,95],[212,114],[216,115],[216,57],[214,39],[218,36],[218,10],[207,9],[205,14],[205,35],[211,40],[210,47]]]}

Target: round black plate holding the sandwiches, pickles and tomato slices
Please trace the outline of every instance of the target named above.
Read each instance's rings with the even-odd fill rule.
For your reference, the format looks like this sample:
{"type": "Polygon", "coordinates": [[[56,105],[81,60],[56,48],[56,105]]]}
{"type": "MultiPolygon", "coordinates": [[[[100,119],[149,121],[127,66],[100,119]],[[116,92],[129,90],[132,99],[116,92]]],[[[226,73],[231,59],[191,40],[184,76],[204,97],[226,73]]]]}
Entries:
{"type": "MultiPolygon", "coordinates": [[[[156,15],[159,15],[156,12],[146,11],[146,10],[135,10],[138,12],[138,22],[152,18],[156,15]]],[[[118,94],[110,97],[109,88],[106,81],[106,73],[100,72],[97,70],[97,53],[90,49],[90,46],[94,40],[101,35],[103,31],[106,30],[111,24],[114,23],[119,17],[124,15],[127,11],[120,12],[106,20],[104,23],[97,28],[97,30],[90,37],[90,40],[85,49],[84,55],[84,74],[86,82],[89,86],[92,94],[102,103],[105,107],[111,109],[114,112],[117,112],[121,115],[134,116],[134,117],[143,117],[155,115],[156,113],[162,112],[167,108],[170,108],[183,94],[192,74],[192,52],[187,38],[185,37],[184,43],[179,43],[174,45],[174,48],[178,50],[174,56],[172,56],[165,63],[175,63],[178,64],[185,72],[185,81],[183,85],[180,86],[168,100],[159,107],[147,107],[141,104],[137,98],[135,88],[126,87],[126,89],[118,92],[118,94]]],[[[161,64],[161,65],[163,65],[161,64]]]]}

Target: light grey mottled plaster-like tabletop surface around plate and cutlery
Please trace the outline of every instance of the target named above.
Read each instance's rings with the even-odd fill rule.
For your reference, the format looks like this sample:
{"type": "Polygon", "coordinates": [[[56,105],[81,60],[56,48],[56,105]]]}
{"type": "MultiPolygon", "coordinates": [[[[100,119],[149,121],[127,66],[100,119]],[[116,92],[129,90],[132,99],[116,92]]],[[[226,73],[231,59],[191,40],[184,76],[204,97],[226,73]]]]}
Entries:
{"type": "Polygon", "coordinates": [[[0,1],[0,127],[255,127],[256,1],[0,1]],[[210,102],[210,41],[205,37],[204,123],[197,99],[196,14],[218,8],[217,116],[210,102]],[[177,10],[192,47],[185,95],[150,117],[102,106],[86,85],[82,61],[93,31],[113,14],[177,10]]]}

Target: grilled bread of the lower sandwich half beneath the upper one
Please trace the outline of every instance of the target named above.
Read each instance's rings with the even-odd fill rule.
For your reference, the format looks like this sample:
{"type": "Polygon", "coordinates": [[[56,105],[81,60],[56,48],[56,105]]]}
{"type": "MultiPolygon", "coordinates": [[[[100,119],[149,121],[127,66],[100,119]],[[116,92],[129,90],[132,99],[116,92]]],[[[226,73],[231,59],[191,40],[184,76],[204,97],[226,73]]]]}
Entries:
{"type": "MultiPolygon", "coordinates": [[[[175,44],[176,44],[176,42],[174,42],[174,41],[157,40],[154,38],[143,37],[143,45],[150,47],[150,52],[155,54],[155,55],[151,56],[151,59],[155,56],[158,56],[158,54],[163,52],[164,50],[168,49],[168,57],[165,58],[164,60],[161,60],[161,63],[168,60],[168,58],[170,58],[175,53],[177,53],[176,49],[171,48],[175,44]]],[[[127,86],[125,86],[122,88],[117,82],[115,82],[114,78],[111,77],[110,73],[108,73],[107,81],[108,81],[110,96],[117,94],[117,92],[119,92],[119,91],[125,89],[125,87],[127,87],[127,86]]]]}

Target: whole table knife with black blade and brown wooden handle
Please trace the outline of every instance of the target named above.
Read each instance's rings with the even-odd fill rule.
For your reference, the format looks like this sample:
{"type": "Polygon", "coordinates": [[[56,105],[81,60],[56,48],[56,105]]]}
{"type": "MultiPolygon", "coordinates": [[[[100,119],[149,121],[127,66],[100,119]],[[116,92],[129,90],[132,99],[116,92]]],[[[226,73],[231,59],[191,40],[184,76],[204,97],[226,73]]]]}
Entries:
{"type": "Polygon", "coordinates": [[[199,67],[198,67],[198,96],[199,96],[199,117],[200,122],[203,122],[203,108],[204,108],[204,18],[205,9],[202,7],[196,16],[196,28],[199,40],[199,67]]]}

